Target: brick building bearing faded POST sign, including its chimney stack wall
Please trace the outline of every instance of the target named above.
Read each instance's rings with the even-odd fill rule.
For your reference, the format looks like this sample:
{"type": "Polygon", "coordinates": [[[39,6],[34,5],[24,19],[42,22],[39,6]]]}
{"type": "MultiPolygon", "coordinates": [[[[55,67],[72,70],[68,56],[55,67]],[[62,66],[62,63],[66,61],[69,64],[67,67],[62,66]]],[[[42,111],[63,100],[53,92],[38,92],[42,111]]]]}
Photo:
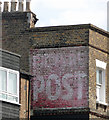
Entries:
{"type": "Polygon", "coordinates": [[[36,22],[31,11],[2,12],[2,48],[21,55],[20,69],[33,75],[31,119],[109,119],[109,33],[36,22]]]}

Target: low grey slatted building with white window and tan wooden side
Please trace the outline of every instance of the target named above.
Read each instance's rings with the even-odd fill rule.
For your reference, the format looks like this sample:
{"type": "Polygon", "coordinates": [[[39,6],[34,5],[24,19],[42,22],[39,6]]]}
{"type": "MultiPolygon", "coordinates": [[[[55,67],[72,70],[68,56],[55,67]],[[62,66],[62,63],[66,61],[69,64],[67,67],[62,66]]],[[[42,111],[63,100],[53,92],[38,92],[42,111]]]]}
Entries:
{"type": "Polygon", "coordinates": [[[0,49],[0,119],[30,118],[31,75],[20,70],[20,55],[0,49]]]}

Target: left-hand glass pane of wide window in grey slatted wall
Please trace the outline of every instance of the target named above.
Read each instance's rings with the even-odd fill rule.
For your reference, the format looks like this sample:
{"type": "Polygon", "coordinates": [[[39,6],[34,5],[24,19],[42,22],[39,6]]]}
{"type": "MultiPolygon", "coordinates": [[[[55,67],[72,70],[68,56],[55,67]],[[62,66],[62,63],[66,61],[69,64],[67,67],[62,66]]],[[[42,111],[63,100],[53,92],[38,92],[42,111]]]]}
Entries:
{"type": "Polygon", "coordinates": [[[7,86],[7,74],[6,71],[0,70],[0,90],[6,91],[6,86],[7,86]]]}

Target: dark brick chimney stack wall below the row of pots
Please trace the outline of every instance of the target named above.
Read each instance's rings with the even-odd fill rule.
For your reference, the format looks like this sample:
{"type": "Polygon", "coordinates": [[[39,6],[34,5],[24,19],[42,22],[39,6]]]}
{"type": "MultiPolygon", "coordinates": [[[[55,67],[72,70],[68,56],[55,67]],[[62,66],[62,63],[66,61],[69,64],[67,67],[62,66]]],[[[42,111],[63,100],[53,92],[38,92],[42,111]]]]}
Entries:
{"type": "MultiPolygon", "coordinates": [[[[30,16],[28,12],[3,12],[2,13],[2,49],[20,54],[22,70],[29,71],[30,36],[26,32],[30,28],[30,16]]],[[[33,14],[34,15],[34,14],[33,14]]]]}

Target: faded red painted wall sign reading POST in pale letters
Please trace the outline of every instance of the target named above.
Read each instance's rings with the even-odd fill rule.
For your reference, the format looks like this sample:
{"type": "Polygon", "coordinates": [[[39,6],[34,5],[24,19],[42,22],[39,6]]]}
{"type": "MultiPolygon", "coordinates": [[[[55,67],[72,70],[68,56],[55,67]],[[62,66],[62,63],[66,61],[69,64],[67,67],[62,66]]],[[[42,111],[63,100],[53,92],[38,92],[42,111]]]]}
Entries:
{"type": "Polygon", "coordinates": [[[30,56],[33,109],[88,106],[86,47],[34,49],[30,56]]]}

